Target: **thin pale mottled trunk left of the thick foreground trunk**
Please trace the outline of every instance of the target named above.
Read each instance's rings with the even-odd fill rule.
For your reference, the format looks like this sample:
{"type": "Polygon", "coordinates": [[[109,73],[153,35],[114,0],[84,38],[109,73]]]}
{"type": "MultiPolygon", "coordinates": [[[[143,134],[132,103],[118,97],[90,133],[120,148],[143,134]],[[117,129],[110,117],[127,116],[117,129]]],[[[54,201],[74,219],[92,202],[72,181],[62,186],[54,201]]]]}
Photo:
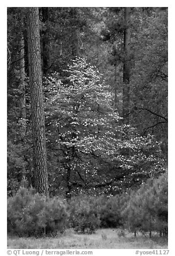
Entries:
{"type": "Polygon", "coordinates": [[[20,118],[23,118],[23,127],[21,130],[21,135],[24,137],[26,133],[26,96],[25,96],[25,60],[24,60],[24,36],[21,34],[20,39],[20,87],[21,87],[21,97],[20,97],[20,118]]]}

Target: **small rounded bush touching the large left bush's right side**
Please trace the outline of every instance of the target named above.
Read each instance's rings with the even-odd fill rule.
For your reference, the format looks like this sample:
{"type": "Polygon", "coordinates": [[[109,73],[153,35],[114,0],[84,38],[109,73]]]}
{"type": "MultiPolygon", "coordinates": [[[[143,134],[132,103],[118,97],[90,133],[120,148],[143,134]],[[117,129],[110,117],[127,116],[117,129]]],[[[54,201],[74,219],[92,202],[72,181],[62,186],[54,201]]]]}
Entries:
{"type": "Polygon", "coordinates": [[[93,233],[100,226],[100,216],[90,197],[77,196],[70,201],[70,223],[76,232],[93,233]]]}

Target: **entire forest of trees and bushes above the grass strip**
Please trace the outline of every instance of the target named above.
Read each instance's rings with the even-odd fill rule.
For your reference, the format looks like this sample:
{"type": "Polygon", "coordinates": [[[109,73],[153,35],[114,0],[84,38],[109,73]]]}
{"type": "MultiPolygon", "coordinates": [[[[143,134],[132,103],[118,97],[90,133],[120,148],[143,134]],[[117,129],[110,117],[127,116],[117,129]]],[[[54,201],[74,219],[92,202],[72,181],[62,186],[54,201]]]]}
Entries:
{"type": "Polygon", "coordinates": [[[167,17],[7,9],[9,234],[167,239],[167,17]]]}

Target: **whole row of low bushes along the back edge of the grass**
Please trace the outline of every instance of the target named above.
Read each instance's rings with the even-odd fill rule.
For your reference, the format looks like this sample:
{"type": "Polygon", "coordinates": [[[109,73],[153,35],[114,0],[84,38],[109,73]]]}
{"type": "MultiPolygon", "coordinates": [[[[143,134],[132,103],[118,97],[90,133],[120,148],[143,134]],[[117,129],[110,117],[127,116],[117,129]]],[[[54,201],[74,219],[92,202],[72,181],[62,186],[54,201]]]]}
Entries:
{"type": "Polygon", "coordinates": [[[167,234],[167,173],[138,190],[111,197],[76,196],[68,204],[26,188],[8,198],[8,232],[40,236],[63,232],[68,225],[80,233],[93,233],[99,227],[127,227],[133,232],[167,234]]]}

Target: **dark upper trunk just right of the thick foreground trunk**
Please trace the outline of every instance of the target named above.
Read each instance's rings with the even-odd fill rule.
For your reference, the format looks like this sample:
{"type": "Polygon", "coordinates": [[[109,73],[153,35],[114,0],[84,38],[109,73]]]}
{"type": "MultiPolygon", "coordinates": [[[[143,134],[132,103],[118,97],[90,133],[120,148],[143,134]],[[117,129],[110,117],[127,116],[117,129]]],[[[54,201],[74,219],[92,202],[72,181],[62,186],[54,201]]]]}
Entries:
{"type": "Polygon", "coordinates": [[[43,74],[47,75],[50,64],[50,52],[49,52],[49,38],[48,38],[48,25],[49,8],[42,7],[42,21],[45,27],[42,31],[42,60],[43,60],[43,74]]]}

